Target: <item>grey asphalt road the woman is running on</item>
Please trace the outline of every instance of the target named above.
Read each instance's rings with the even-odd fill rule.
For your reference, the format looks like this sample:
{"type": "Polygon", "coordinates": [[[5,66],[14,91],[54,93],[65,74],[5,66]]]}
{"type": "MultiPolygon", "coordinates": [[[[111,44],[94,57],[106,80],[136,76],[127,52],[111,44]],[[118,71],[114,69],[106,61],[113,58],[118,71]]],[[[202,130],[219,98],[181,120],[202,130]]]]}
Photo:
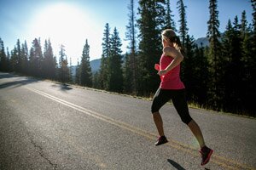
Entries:
{"type": "Polygon", "coordinates": [[[256,120],[189,108],[214,153],[171,104],[169,143],[154,146],[151,101],[0,72],[0,169],[256,169],[256,120]]]}

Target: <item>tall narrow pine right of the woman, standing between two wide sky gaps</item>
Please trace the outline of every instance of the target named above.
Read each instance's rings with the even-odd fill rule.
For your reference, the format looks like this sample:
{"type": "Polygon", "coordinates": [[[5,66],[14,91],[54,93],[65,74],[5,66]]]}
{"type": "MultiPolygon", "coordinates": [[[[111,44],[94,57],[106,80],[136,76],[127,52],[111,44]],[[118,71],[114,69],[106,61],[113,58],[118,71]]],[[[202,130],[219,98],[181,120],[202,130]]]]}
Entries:
{"type": "Polygon", "coordinates": [[[218,10],[217,0],[210,0],[209,5],[210,20],[207,22],[209,38],[209,71],[212,81],[209,82],[209,106],[215,110],[220,110],[223,107],[222,97],[224,96],[223,70],[221,58],[221,43],[219,42],[220,32],[218,31],[218,10]]]}

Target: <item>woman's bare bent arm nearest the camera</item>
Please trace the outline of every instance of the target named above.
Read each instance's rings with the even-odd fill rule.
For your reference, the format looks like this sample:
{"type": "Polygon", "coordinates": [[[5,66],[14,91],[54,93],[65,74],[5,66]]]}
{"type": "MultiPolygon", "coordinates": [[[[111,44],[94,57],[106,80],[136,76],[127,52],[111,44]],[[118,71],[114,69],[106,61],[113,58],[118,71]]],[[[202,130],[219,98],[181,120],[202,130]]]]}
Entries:
{"type": "Polygon", "coordinates": [[[175,68],[177,65],[179,65],[183,61],[183,54],[181,54],[179,51],[177,51],[176,48],[172,47],[166,47],[164,48],[164,53],[168,56],[173,57],[172,62],[170,65],[166,67],[165,70],[161,70],[158,72],[160,76],[165,75],[167,72],[172,71],[173,68],[175,68]]]}

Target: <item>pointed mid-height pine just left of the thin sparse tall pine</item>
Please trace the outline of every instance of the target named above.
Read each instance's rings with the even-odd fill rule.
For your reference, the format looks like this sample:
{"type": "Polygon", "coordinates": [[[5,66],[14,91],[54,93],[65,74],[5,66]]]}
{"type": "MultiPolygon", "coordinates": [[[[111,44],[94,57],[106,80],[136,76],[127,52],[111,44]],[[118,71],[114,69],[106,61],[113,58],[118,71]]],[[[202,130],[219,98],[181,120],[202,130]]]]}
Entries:
{"type": "Polygon", "coordinates": [[[113,92],[123,91],[123,71],[122,71],[122,50],[119,32],[116,27],[110,38],[110,57],[108,58],[108,79],[107,89],[113,92]]]}

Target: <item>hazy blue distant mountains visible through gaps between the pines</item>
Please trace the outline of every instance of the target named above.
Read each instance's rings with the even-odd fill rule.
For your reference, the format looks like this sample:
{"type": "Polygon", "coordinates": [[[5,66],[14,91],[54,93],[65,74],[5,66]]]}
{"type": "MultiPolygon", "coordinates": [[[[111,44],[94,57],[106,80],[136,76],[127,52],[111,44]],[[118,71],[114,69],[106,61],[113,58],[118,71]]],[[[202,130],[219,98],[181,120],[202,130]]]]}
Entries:
{"type": "MultiPolygon", "coordinates": [[[[198,39],[195,40],[195,43],[198,45],[198,47],[201,47],[201,45],[202,45],[203,47],[209,46],[209,41],[208,41],[208,38],[207,38],[207,37],[198,38],[198,39]]],[[[90,67],[91,67],[92,73],[95,74],[96,71],[99,71],[99,70],[100,70],[100,67],[101,67],[101,59],[93,59],[93,60],[91,60],[91,61],[90,61],[90,67]]],[[[71,67],[73,76],[74,76],[75,73],[76,73],[76,68],[77,68],[76,65],[73,65],[73,66],[71,67]]]]}

